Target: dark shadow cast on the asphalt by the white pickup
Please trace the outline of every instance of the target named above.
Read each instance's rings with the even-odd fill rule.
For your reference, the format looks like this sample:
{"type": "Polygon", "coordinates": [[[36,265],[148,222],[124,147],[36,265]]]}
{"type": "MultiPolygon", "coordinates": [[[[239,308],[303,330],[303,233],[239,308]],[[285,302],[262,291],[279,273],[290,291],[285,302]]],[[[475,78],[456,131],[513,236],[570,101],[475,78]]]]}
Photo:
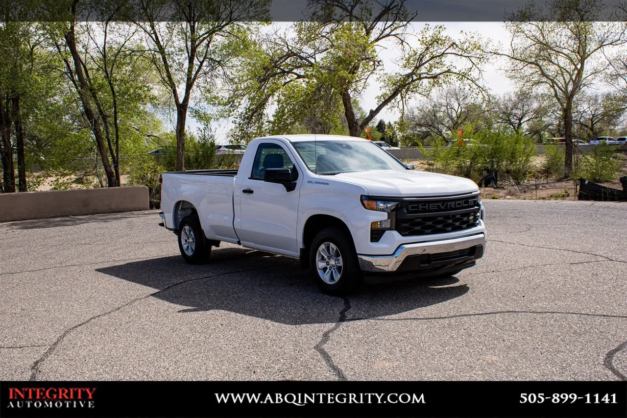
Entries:
{"type": "MultiPolygon", "coordinates": [[[[153,296],[186,306],[179,312],[219,309],[288,324],[338,321],[340,297],[322,294],[297,260],[245,249],[214,249],[206,265],[180,256],[141,260],[96,269],[157,289],[153,296]]],[[[424,308],[468,292],[455,277],[364,284],[349,296],[346,319],[377,318],[424,308]]]]}

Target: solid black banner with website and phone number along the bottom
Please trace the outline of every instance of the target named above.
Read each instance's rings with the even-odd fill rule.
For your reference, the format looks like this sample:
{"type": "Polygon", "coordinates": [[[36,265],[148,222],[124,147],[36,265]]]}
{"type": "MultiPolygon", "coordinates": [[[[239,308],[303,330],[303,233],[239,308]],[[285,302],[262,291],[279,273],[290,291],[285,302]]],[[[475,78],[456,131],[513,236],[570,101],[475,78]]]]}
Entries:
{"type": "Polygon", "coordinates": [[[1,382],[2,417],[627,417],[627,382],[1,382]]]}

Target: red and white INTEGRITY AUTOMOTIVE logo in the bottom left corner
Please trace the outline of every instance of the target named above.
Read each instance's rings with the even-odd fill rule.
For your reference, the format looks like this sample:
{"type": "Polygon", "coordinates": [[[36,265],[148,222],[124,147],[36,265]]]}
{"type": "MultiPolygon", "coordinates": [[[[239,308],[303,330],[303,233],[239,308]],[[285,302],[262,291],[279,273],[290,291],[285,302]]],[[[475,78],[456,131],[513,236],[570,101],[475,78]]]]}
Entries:
{"type": "Polygon", "coordinates": [[[9,387],[7,409],[93,409],[95,387],[9,387]]]}

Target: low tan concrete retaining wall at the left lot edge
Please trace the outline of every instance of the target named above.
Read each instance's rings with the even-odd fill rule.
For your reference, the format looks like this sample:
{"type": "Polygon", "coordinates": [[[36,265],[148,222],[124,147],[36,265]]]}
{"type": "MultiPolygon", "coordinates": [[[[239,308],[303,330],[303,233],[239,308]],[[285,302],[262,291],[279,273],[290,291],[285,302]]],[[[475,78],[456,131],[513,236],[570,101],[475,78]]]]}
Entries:
{"type": "Polygon", "coordinates": [[[147,209],[146,186],[0,194],[0,222],[147,209]]]}

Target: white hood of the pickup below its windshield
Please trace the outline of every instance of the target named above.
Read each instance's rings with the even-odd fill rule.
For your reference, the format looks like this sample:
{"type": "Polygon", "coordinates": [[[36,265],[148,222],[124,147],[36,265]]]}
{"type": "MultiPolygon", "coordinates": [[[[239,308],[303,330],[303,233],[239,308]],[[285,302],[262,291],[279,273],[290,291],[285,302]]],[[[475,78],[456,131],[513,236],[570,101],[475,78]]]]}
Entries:
{"type": "Polygon", "coordinates": [[[371,196],[443,196],[478,190],[477,184],[467,178],[426,171],[354,171],[331,177],[364,186],[371,196]]]}

